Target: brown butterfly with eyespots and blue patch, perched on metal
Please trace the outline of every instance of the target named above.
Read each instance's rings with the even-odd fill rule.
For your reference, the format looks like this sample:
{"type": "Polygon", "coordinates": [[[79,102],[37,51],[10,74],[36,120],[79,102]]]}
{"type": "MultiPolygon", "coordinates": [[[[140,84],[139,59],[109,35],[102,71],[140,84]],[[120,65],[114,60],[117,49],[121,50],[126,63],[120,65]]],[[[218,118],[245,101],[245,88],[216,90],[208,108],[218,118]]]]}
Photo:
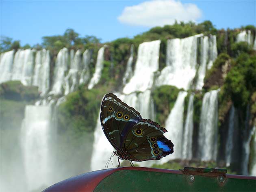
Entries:
{"type": "MultiPolygon", "coordinates": [[[[163,136],[167,130],[122,102],[113,93],[102,100],[100,122],[103,132],[115,148],[118,162],[160,160],[174,152],[174,144],[163,136]]],[[[118,167],[120,166],[120,162],[118,167]]]]}

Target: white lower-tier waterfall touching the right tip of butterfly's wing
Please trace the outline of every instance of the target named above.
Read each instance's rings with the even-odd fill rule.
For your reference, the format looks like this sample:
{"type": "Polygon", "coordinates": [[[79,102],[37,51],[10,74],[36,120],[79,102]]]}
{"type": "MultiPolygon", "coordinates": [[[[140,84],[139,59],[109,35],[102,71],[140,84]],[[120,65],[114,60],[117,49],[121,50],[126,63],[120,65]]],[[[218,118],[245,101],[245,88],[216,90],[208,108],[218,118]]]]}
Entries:
{"type": "Polygon", "coordinates": [[[174,144],[174,153],[168,155],[161,160],[158,164],[163,164],[173,159],[182,158],[182,129],[183,129],[183,112],[184,112],[184,99],[187,96],[186,91],[180,91],[175,101],[174,107],[172,108],[167,120],[165,121],[165,128],[167,133],[164,136],[171,140],[174,144]]]}

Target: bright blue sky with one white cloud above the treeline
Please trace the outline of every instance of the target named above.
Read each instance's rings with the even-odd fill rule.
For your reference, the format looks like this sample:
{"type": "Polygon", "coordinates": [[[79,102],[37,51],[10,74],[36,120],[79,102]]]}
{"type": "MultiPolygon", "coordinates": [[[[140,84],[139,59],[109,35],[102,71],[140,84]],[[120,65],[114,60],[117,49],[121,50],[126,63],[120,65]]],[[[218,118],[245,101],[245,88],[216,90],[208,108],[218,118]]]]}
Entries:
{"type": "Polygon", "coordinates": [[[67,28],[104,43],[175,20],[210,20],[217,29],[256,25],[256,0],[0,0],[0,35],[22,46],[67,28]]]}

